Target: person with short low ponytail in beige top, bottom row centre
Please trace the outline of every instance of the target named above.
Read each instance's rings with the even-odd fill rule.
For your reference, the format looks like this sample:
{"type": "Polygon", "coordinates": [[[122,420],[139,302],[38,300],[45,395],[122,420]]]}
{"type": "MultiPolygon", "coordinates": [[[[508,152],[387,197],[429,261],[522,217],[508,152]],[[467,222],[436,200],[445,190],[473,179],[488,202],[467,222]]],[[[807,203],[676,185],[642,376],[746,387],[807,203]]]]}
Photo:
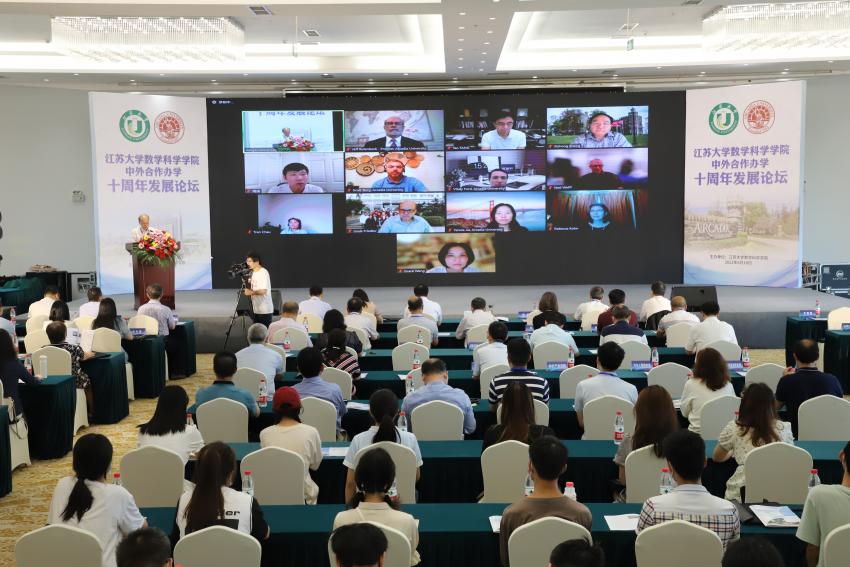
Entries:
{"type": "Polygon", "coordinates": [[[388,492],[395,482],[395,463],[390,454],[376,447],[363,453],[354,471],[357,492],[348,500],[347,510],[334,518],[334,530],[340,526],[375,522],[403,533],[410,542],[410,564],[419,564],[419,522],[399,510],[388,492]]]}

